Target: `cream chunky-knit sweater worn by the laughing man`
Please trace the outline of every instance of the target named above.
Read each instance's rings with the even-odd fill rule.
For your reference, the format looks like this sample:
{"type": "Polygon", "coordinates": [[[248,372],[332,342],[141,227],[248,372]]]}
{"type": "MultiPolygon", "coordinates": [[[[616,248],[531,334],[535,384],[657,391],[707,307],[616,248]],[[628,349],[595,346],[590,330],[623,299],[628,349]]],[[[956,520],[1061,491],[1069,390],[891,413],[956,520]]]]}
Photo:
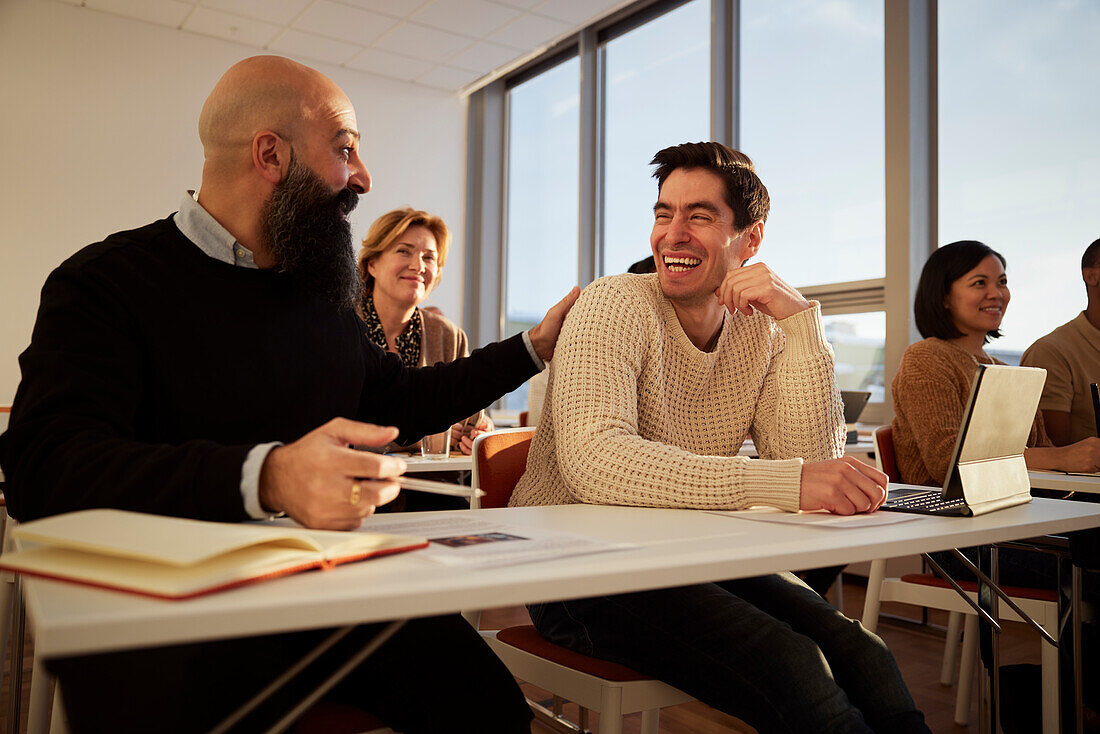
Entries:
{"type": "Polygon", "coordinates": [[[692,344],[657,275],[581,294],[561,331],[513,505],[798,510],[802,460],[842,456],[844,410],[821,307],[725,314],[692,344]],[[751,435],[761,459],[737,456],[751,435]]]}

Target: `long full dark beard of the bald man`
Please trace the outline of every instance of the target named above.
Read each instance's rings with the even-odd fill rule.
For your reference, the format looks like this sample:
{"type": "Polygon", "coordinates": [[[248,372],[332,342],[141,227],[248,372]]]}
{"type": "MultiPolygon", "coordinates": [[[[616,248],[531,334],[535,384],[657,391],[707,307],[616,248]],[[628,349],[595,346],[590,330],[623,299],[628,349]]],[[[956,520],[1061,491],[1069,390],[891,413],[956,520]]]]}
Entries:
{"type": "Polygon", "coordinates": [[[360,293],[346,219],[358,204],[355,191],[333,194],[292,153],[286,178],[261,212],[275,266],[340,308],[353,308],[360,293]]]}

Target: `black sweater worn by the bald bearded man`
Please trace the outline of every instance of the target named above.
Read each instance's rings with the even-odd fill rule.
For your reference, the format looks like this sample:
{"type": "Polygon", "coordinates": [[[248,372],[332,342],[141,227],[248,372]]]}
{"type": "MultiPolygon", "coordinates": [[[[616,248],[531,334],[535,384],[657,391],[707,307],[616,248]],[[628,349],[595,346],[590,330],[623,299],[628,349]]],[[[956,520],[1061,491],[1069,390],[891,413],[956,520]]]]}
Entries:
{"type": "Polygon", "coordinates": [[[444,430],[535,365],[520,337],[408,370],[294,277],[219,262],[172,219],[77,252],[42,289],[0,436],[21,521],[116,507],[245,519],[250,449],[343,416],[444,430]]]}

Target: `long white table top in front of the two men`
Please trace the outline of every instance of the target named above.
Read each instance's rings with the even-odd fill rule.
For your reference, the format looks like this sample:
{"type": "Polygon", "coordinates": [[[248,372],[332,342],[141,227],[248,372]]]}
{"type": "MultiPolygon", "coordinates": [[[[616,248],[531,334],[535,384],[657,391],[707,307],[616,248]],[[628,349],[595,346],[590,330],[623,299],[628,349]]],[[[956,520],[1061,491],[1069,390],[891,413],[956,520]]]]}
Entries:
{"type": "MultiPolygon", "coordinates": [[[[641,547],[495,569],[417,552],[183,602],[25,579],[46,657],[377,622],[831,566],[1100,526],[1100,505],[1035,500],[980,517],[865,528],[777,525],[703,512],[598,505],[452,511],[641,547]]],[[[369,528],[370,523],[367,523],[369,528]]]]}

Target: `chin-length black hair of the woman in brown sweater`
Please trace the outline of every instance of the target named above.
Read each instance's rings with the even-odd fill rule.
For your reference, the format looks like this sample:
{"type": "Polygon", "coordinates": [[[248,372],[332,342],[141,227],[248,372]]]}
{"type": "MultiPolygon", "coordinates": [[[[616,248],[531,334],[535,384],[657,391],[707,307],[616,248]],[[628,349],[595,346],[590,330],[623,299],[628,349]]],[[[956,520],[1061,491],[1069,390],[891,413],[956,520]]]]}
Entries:
{"type": "MultiPolygon", "coordinates": [[[[944,306],[952,284],[990,255],[997,255],[1004,266],[1004,258],[987,244],[977,240],[960,240],[945,244],[928,256],[921,270],[921,281],[916,285],[916,297],[913,299],[913,316],[916,319],[916,330],[921,336],[939,339],[957,339],[963,333],[955,328],[950,311],[944,306]]],[[[986,335],[985,342],[1001,336],[1000,329],[993,329],[986,335]]]]}

